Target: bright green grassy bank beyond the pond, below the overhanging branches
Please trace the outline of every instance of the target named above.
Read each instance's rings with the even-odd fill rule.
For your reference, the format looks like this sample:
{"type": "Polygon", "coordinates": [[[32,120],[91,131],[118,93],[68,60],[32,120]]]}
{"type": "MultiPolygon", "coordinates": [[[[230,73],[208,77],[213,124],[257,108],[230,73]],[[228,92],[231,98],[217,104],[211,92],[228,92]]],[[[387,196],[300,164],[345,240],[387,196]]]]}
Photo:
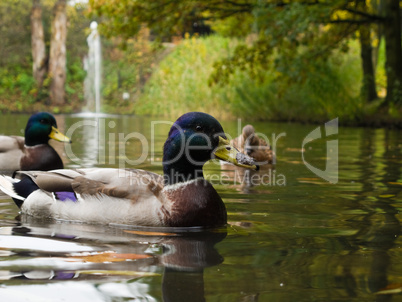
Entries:
{"type": "MultiPolygon", "coordinates": [[[[219,36],[184,40],[153,72],[134,112],[175,117],[199,110],[248,120],[323,122],[339,117],[350,125],[398,123],[397,111],[390,117],[388,110],[378,111],[381,101],[367,106],[361,99],[357,42],[352,41],[347,52],[334,53],[325,64],[306,63],[304,78],[298,82],[275,81],[280,74],[272,66],[262,82],[237,72],[228,85],[209,86],[213,63],[230,55],[236,45],[236,40],[219,36]]],[[[381,68],[378,74],[378,81],[384,81],[381,68]]]]}

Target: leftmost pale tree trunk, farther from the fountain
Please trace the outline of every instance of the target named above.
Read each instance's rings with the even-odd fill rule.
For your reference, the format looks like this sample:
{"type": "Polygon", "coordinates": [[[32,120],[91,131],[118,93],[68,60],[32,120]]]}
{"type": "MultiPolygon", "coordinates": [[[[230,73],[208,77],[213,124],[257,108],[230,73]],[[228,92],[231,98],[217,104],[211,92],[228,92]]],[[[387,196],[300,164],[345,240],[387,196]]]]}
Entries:
{"type": "Polygon", "coordinates": [[[32,1],[31,10],[32,71],[36,85],[41,88],[46,73],[46,47],[40,0],[32,1]]]}

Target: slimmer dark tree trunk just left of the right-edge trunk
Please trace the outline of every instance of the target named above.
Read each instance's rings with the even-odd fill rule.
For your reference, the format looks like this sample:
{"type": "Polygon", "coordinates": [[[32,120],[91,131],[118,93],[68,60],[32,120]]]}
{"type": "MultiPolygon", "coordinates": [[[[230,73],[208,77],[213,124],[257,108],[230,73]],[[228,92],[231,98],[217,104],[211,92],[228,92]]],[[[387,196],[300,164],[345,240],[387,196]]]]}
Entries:
{"type": "Polygon", "coordinates": [[[373,66],[373,48],[371,46],[370,26],[363,25],[360,32],[360,56],[363,68],[362,95],[366,102],[372,102],[377,98],[375,74],[373,66]]]}

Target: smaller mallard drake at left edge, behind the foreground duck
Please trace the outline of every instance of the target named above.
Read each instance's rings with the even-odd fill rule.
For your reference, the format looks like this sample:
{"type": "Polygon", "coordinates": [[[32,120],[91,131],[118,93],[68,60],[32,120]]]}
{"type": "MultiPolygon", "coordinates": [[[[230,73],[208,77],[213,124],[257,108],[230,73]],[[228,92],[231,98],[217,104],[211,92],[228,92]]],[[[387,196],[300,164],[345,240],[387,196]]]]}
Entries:
{"type": "Polygon", "coordinates": [[[71,142],[57,130],[56,120],[50,113],[32,115],[22,136],[0,136],[0,171],[62,169],[63,162],[48,144],[49,139],[71,142]]]}

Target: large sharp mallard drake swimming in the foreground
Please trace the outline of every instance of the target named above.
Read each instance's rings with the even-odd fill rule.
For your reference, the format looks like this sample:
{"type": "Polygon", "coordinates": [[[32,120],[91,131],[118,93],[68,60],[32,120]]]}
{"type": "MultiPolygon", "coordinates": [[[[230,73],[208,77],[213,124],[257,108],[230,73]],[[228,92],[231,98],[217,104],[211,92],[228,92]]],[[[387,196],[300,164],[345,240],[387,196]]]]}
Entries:
{"type": "Polygon", "coordinates": [[[190,112],[171,127],[163,148],[163,175],[139,169],[88,168],[0,176],[0,189],[22,213],[90,223],[157,227],[226,224],[226,208],[202,167],[217,158],[257,169],[230,146],[211,115],[190,112]]]}

